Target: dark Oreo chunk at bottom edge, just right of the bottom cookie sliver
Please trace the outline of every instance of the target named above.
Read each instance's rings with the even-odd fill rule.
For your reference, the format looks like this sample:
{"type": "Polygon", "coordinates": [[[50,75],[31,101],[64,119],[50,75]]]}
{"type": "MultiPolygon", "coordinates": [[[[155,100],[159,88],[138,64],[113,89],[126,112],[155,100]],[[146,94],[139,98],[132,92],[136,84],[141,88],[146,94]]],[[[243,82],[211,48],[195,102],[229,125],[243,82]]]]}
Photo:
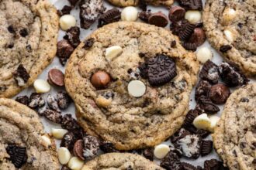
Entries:
{"type": "Polygon", "coordinates": [[[173,151],[169,151],[161,160],[160,166],[166,170],[182,170],[182,165],[178,155],[173,151]]]}

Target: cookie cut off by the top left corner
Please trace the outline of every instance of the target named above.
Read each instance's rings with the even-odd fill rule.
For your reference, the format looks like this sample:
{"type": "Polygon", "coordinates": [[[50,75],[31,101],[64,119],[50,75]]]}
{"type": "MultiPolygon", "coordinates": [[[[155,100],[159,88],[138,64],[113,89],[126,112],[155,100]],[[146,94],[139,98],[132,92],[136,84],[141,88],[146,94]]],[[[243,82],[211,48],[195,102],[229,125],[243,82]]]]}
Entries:
{"type": "Polygon", "coordinates": [[[48,1],[0,2],[0,97],[29,87],[54,59],[57,10],[48,1]]]}

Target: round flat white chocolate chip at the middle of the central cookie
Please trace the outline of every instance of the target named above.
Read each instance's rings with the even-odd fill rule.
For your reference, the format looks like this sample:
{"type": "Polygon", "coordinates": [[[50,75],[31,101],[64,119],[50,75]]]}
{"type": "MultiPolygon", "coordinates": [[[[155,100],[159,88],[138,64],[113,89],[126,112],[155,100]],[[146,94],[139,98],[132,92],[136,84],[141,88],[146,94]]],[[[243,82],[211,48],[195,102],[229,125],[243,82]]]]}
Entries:
{"type": "Polygon", "coordinates": [[[140,80],[132,80],[128,84],[128,93],[133,97],[142,97],[145,92],[146,86],[140,80]]]}

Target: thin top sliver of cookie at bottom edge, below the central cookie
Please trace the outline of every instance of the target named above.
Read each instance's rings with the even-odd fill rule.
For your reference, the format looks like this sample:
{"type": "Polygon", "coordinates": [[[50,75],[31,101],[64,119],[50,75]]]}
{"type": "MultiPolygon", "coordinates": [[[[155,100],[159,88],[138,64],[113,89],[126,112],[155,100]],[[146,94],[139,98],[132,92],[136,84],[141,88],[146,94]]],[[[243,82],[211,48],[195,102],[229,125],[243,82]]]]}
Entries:
{"type": "Polygon", "coordinates": [[[86,162],[82,170],[92,169],[150,169],[161,170],[160,166],[150,162],[148,159],[128,153],[110,153],[100,155],[86,162]]]}

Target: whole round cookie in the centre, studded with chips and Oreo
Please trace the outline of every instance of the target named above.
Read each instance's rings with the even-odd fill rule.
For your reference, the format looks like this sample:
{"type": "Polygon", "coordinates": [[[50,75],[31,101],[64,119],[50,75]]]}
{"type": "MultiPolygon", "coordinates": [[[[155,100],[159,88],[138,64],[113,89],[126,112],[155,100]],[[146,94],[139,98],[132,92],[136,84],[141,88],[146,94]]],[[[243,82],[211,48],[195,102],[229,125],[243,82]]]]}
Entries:
{"type": "Polygon", "coordinates": [[[154,146],[174,134],[185,119],[197,79],[195,54],[186,51],[168,30],[140,22],[115,22],[87,39],[94,39],[94,44],[85,49],[81,42],[65,73],[67,92],[85,131],[120,150],[154,146]],[[174,48],[172,41],[177,42],[174,48]],[[123,52],[106,59],[109,46],[120,46],[123,52]],[[99,70],[111,76],[101,90],[90,81],[99,70]],[[140,97],[129,93],[133,80],[146,86],[140,97]]]}

